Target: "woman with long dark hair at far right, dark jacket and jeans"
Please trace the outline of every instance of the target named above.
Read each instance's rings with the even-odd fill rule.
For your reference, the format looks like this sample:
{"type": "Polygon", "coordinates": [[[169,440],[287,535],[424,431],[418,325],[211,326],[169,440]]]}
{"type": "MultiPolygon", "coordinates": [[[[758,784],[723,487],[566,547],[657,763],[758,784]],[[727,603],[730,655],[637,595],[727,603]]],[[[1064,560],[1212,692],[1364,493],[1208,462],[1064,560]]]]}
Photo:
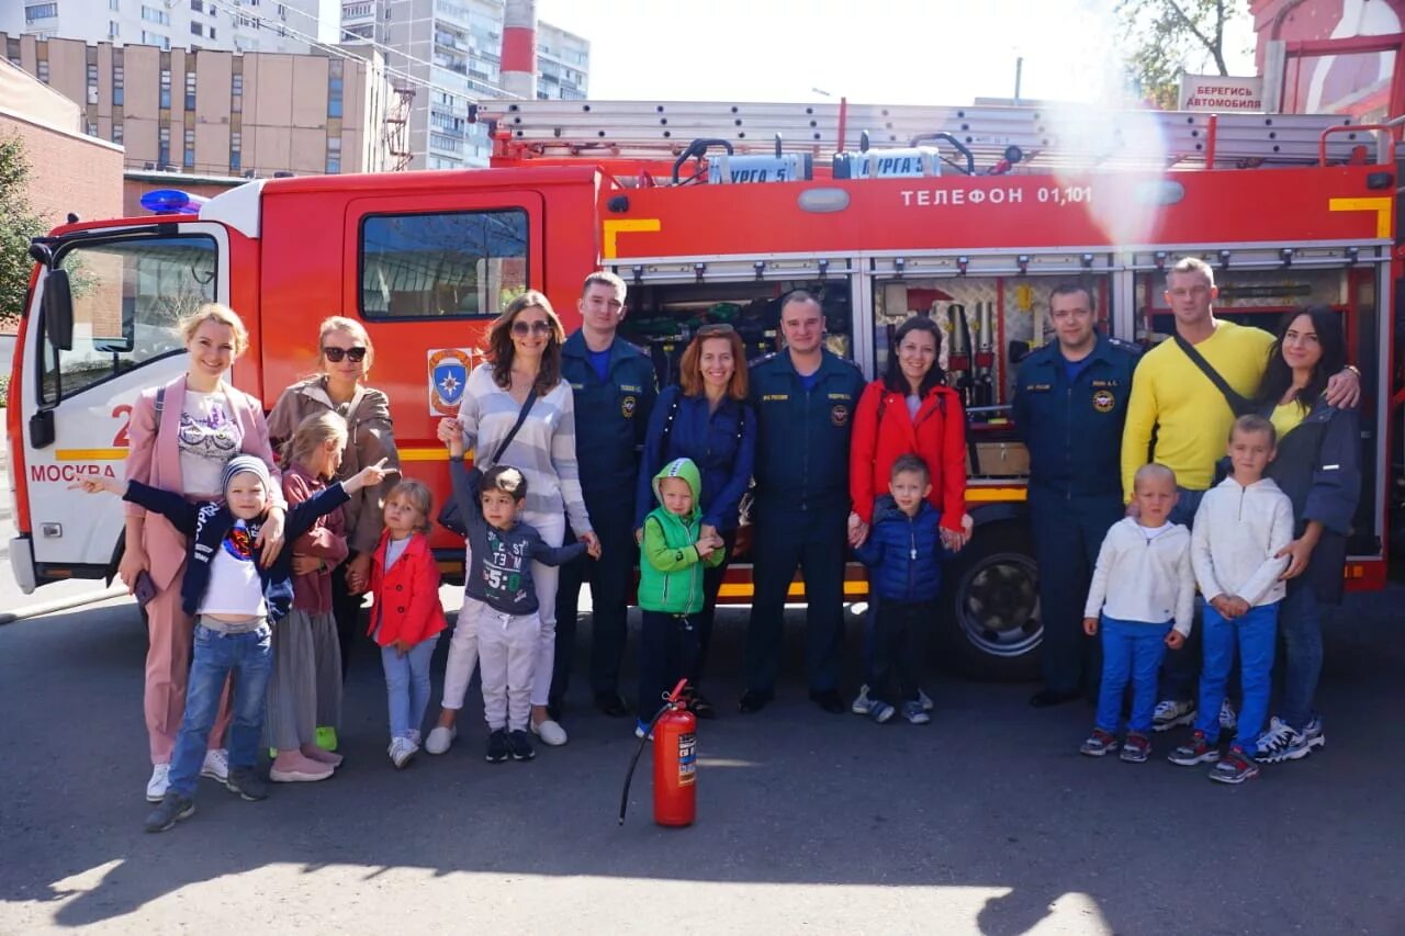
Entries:
{"type": "Polygon", "coordinates": [[[1294,540],[1279,610],[1283,693],[1279,714],[1259,736],[1257,760],[1305,758],[1326,743],[1312,696],[1322,672],[1322,606],[1342,600],[1346,537],[1361,493],[1360,433],[1354,409],[1328,406],[1326,379],[1346,364],[1342,323],[1315,305],[1279,326],[1259,388],[1260,412],[1279,431],[1267,475],[1293,502],[1294,540]]]}

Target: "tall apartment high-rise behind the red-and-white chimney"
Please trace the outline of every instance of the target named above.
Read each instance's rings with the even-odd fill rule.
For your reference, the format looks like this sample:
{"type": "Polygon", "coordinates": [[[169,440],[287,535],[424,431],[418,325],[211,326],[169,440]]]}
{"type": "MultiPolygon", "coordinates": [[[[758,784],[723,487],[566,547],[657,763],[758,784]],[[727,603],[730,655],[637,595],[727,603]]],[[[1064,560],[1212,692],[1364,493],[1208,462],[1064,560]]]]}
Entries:
{"type": "MultiPolygon", "coordinates": [[[[420,83],[409,108],[410,169],[486,166],[486,129],[468,104],[502,97],[502,0],[343,0],[341,39],[378,44],[386,63],[420,83]]],[[[537,24],[537,96],[579,100],[590,77],[590,42],[537,24]]]]}

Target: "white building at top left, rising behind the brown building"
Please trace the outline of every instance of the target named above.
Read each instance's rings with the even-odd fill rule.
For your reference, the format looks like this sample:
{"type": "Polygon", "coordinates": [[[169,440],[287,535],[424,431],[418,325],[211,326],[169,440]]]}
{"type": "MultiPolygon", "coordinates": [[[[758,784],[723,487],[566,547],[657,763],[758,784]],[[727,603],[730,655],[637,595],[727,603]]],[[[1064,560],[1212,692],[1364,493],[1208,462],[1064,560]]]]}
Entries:
{"type": "Polygon", "coordinates": [[[0,32],[112,45],[308,52],[319,0],[3,0],[0,32]]]}

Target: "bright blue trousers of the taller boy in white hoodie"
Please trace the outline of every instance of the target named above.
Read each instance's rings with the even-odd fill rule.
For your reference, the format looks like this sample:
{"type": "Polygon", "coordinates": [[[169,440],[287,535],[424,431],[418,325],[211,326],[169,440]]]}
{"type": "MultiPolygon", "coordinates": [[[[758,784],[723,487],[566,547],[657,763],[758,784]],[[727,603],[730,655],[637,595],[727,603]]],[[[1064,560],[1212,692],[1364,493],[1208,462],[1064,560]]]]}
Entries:
{"type": "Polygon", "coordinates": [[[1239,732],[1235,746],[1245,753],[1257,750],[1259,732],[1269,717],[1269,693],[1273,682],[1273,652],[1279,639],[1279,604],[1250,607],[1243,617],[1225,618],[1205,604],[1204,645],[1205,666],[1200,672],[1200,713],[1196,729],[1205,732],[1205,741],[1220,741],[1220,706],[1225,700],[1225,683],[1234,669],[1235,648],[1239,651],[1239,684],[1243,703],[1239,708],[1239,732]]]}

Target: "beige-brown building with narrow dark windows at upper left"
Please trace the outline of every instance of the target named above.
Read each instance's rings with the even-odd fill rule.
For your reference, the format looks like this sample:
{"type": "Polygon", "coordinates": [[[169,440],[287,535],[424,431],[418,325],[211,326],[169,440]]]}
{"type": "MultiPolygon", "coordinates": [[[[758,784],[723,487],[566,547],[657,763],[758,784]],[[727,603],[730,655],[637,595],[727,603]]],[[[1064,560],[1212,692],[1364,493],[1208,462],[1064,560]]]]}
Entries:
{"type": "Polygon", "coordinates": [[[379,55],[235,53],[0,34],[6,58],[77,101],[132,169],[273,176],[396,167],[400,96],[379,55]]]}

